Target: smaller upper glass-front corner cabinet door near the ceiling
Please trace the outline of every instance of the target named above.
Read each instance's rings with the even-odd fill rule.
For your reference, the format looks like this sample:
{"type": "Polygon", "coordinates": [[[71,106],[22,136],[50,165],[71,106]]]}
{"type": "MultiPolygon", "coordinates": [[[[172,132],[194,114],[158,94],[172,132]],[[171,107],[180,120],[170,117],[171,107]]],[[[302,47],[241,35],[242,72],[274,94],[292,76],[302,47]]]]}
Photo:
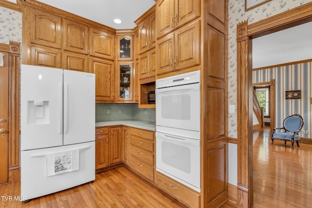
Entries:
{"type": "Polygon", "coordinates": [[[118,60],[133,60],[133,36],[118,36],[118,60]]]}

